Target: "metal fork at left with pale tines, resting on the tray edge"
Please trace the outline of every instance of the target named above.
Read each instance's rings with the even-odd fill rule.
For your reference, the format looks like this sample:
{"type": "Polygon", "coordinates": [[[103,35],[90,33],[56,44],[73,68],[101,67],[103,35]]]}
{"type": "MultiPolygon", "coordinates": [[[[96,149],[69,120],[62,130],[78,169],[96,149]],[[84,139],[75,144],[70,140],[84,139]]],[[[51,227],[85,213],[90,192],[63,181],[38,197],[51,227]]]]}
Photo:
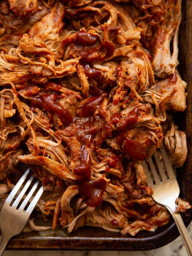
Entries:
{"type": "Polygon", "coordinates": [[[43,187],[41,186],[38,190],[37,187],[39,185],[39,180],[35,182],[33,187],[30,189],[25,199],[20,204],[21,199],[25,195],[27,189],[31,185],[32,181],[34,181],[34,176],[31,175],[27,180],[27,176],[30,172],[30,168],[23,174],[20,180],[17,182],[15,187],[12,189],[11,193],[7,197],[3,208],[0,212],[0,227],[1,227],[1,241],[0,241],[0,255],[3,254],[7,243],[9,242],[12,236],[18,235],[24,228],[27,220],[33,211],[36,203],[38,202],[40,196],[43,193],[43,187]],[[19,195],[14,199],[17,192],[20,190],[24,181],[27,180],[25,186],[20,191],[19,195]],[[37,192],[36,192],[37,190],[37,192]],[[29,204],[28,208],[25,210],[26,205],[28,204],[31,196],[33,196],[34,192],[36,195],[33,200],[29,204]],[[13,204],[11,204],[13,202],[13,204]]]}

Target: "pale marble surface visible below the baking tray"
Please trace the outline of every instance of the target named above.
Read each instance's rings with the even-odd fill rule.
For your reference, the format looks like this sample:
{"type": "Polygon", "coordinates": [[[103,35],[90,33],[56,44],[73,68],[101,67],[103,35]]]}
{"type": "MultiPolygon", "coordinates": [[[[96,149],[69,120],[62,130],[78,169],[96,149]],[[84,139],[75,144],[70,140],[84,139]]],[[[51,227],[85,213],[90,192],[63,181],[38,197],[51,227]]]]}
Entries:
{"type": "MultiPolygon", "coordinates": [[[[192,223],[188,227],[192,238],[192,223]]],[[[4,256],[187,256],[181,237],[164,247],[150,251],[116,252],[116,251],[5,251],[4,256]]]]}

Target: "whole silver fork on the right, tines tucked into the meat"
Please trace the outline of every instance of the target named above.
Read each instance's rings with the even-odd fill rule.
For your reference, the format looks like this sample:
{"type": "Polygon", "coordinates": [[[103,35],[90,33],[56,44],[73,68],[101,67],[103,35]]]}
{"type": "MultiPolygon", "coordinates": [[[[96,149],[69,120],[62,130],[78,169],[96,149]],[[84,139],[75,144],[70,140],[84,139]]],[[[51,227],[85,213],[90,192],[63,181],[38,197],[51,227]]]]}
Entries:
{"type": "Polygon", "coordinates": [[[154,159],[156,166],[152,160],[149,158],[147,163],[143,161],[141,164],[143,169],[146,171],[147,185],[153,189],[153,194],[151,195],[153,199],[164,205],[171,213],[177,228],[180,232],[181,238],[188,252],[188,255],[192,255],[192,242],[188,235],[187,229],[183,223],[183,220],[179,213],[175,213],[176,204],[175,200],[180,194],[180,188],[173,172],[172,166],[170,164],[169,158],[165,151],[164,145],[160,147],[160,152],[162,160],[159,157],[159,153],[156,151],[154,153],[154,159]],[[149,168],[148,168],[149,167],[149,168]],[[157,170],[156,170],[157,168],[157,170]]]}

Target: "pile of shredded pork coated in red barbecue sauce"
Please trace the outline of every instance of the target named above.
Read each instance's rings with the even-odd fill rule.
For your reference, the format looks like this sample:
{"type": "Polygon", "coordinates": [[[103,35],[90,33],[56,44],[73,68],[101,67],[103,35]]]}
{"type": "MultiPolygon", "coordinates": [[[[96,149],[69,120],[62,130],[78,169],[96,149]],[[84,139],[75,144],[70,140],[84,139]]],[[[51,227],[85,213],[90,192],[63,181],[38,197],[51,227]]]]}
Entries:
{"type": "Polygon", "coordinates": [[[36,208],[53,229],[134,236],[168,223],[140,161],[164,136],[175,166],[186,158],[185,133],[165,112],[186,108],[180,8],[181,0],[1,1],[1,203],[22,162],[47,191],[36,208]]]}

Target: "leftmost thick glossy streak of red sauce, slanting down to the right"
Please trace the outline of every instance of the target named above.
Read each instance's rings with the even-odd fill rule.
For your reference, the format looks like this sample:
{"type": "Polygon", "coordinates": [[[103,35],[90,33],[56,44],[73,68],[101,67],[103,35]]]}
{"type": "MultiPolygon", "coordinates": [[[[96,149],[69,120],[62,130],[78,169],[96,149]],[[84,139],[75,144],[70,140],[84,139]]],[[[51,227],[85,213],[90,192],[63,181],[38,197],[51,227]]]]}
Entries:
{"type": "Polygon", "coordinates": [[[73,117],[66,108],[63,108],[63,106],[59,102],[57,102],[57,99],[57,93],[42,94],[33,97],[33,99],[31,100],[31,105],[32,107],[41,107],[50,113],[54,112],[59,116],[61,122],[65,126],[68,126],[72,123],[73,117]]]}

